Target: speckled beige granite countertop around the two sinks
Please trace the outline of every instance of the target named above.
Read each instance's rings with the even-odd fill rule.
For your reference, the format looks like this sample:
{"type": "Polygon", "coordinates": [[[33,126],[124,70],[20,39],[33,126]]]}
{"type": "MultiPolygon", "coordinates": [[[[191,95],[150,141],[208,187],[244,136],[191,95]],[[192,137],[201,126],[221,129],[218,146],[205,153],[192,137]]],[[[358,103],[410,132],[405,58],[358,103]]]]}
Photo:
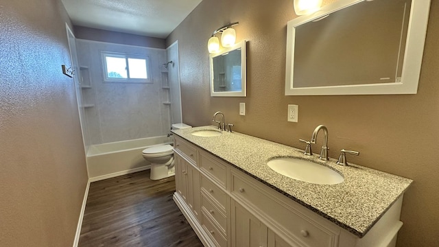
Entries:
{"type": "Polygon", "coordinates": [[[203,126],[172,132],[358,237],[364,237],[412,183],[410,179],[352,163],[337,165],[333,158],[321,161],[318,155],[305,156],[302,150],[238,132],[223,132],[217,137],[191,134],[198,130],[217,128],[203,126]],[[344,182],[317,185],[283,176],[266,165],[270,158],[278,156],[294,156],[326,165],[340,172],[344,182]]]}

